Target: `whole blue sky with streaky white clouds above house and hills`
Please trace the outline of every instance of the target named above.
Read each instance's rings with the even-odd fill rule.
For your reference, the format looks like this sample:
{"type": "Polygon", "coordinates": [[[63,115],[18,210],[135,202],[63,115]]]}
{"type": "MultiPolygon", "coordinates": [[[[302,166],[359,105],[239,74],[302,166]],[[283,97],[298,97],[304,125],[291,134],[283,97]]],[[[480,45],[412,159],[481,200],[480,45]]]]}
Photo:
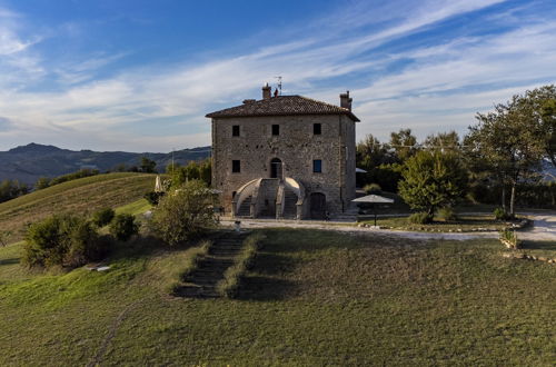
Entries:
{"type": "Polygon", "coordinates": [[[285,95],[339,103],[358,139],[465,133],[556,82],[556,1],[0,0],[0,150],[170,151],[207,112],[285,95]]]}

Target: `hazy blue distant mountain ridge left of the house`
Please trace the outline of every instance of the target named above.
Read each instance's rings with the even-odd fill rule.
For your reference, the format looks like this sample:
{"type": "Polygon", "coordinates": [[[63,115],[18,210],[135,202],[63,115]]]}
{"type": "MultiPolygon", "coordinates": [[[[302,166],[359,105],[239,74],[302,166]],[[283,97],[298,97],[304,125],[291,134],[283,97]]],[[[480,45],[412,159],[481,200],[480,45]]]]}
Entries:
{"type": "MultiPolygon", "coordinates": [[[[98,169],[103,172],[115,170],[119,165],[139,166],[141,157],[155,160],[157,170],[163,171],[166,166],[171,162],[172,153],[76,151],[31,142],[8,151],[0,151],[0,181],[17,179],[32,185],[39,177],[57,177],[81,168],[98,169]]],[[[210,147],[182,149],[173,152],[173,161],[180,165],[207,157],[210,157],[210,147]]]]}

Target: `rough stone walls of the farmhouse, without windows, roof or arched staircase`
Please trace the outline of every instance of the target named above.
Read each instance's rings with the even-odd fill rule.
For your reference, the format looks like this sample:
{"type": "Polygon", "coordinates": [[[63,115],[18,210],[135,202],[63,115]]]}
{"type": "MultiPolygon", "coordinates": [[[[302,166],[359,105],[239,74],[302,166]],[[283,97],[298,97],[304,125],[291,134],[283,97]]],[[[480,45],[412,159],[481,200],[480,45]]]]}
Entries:
{"type": "Polygon", "coordinates": [[[330,212],[347,209],[355,198],[355,122],[344,115],[276,116],[212,119],[212,182],[230,211],[232,192],[257,178],[270,178],[270,160],[282,162],[284,177],[301,182],[307,197],[322,192],[330,212]],[[312,125],[321,123],[321,135],[312,125]],[[239,137],[232,126],[240,127],[239,137]],[[280,126],[272,136],[271,126],[280,126]],[[312,172],[314,159],[322,172],[312,172]],[[241,171],[232,172],[232,160],[241,171]]]}

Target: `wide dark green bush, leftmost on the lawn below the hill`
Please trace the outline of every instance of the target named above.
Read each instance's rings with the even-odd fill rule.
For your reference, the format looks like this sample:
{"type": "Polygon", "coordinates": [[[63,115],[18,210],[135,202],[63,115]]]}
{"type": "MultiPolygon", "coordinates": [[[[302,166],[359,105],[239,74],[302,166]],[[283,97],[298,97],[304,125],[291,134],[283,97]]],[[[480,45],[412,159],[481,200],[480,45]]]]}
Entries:
{"type": "Polygon", "coordinates": [[[23,264],[77,267],[106,256],[109,242],[82,217],[52,216],[32,224],[26,232],[23,264]]]}

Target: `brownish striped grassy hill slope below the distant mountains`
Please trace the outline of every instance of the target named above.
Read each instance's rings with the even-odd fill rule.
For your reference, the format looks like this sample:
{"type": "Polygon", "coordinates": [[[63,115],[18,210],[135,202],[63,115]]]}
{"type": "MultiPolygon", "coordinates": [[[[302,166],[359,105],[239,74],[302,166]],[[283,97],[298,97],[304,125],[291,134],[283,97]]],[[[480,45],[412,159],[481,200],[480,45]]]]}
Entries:
{"type": "Polygon", "coordinates": [[[108,173],[63,182],[0,204],[0,228],[21,238],[23,224],[52,214],[87,214],[116,208],[142,198],[155,187],[155,175],[108,173]]]}

